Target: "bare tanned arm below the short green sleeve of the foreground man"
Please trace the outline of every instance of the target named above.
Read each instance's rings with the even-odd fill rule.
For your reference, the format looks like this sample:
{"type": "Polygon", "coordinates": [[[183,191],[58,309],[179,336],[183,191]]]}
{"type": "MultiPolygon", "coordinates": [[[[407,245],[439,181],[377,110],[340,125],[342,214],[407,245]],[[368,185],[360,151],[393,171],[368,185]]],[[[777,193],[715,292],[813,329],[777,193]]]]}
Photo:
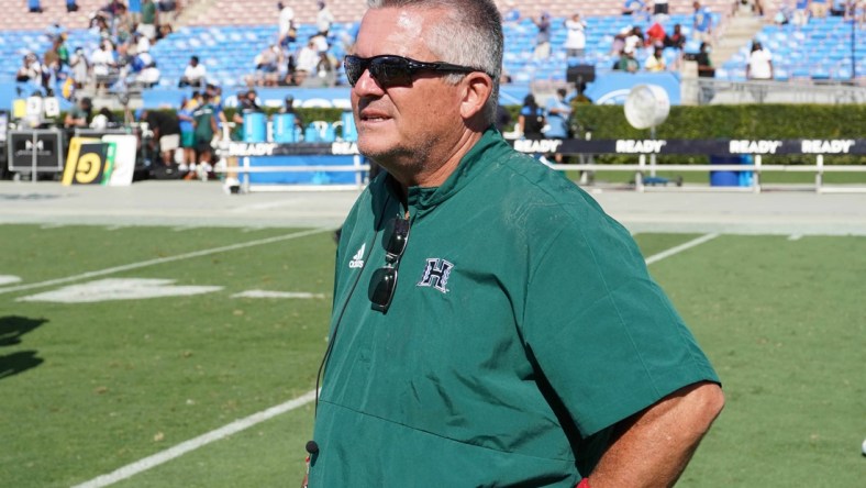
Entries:
{"type": "Polygon", "coordinates": [[[673,486],[723,406],[721,388],[703,381],[620,422],[589,486],[673,486]]]}

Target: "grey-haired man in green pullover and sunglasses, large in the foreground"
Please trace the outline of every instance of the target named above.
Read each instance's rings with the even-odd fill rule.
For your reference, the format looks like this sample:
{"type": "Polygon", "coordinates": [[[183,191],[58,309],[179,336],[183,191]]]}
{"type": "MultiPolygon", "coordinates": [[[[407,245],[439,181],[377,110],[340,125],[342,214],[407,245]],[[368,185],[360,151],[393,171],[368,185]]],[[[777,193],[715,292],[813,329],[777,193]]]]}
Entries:
{"type": "Polygon", "coordinates": [[[345,67],[387,173],[343,228],[309,485],[673,485],[718,378],[629,232],[492,127],[496,4],[368,3],[345,67]]]}

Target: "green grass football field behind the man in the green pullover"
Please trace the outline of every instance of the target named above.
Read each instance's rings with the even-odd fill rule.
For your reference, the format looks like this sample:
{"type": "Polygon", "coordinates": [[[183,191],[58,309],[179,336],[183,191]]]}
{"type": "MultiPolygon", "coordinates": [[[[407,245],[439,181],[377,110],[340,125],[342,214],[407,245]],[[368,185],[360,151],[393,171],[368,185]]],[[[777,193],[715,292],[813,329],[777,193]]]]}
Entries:
{"type": "MultiPolygon", "coordinates": [[[[84,484],[313,389],[329,232],[0,225],[0,486],[84,484]]],[[[651,271],[728,398],[679,486],[863,487],[866,237],[721,235],[651,271]]],[[[311,431],[306,402],[115,486],[297,486],[311,431]]]]}

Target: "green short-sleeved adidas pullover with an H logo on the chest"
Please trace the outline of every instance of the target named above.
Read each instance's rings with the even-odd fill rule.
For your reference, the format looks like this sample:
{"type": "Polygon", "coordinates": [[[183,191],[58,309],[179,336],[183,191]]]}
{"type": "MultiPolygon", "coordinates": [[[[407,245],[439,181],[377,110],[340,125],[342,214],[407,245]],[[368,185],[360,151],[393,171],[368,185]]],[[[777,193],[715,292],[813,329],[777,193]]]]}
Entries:
{"type": "Polygon", "coordinates": [[[718,381],[629,232],[492,129],[409,189],[396,295],[373,310],[392,185],[343,228],[310,487],[574,487],[611,425],[718,381]]]}

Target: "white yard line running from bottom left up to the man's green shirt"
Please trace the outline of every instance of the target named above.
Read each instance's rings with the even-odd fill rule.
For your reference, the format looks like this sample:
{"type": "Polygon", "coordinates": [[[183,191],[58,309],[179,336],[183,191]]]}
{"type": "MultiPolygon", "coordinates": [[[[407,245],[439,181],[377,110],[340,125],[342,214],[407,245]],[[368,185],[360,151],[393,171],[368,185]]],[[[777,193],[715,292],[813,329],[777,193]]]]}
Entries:
{"type": "Polygon", "coordinates": [[[295,410],[299,407],[313,401],[315,399],[315,390],[308,391],[301,397],[289,400],[285,403],[263,410],[258,413],[253,413],[244,419],[235,420],[234,422],[223,425],[220,429],[208,432],[207,434],[199,435],[198,437],[190,439],[189,441],[181,442],[180,444],[169,447],[165,451],[158,452],[153,456],[145,457],[136,461],[135,463],[127,464],[119,469],[115,469],[108,475],[98,476],[89,481],[76,485],[73,488],[99,488],[103,486],[113,485],[123,479],[137,475],[138,473],[146,472],[153,467],[159,466],[163,463],[169,462],[176,457],[180,457],[190,451],[208,445],[212,442],[227,437],[232,434],[249,429],[253,425],[262,423],[266,420],[273,419],[279,414],[295,410]]]}

